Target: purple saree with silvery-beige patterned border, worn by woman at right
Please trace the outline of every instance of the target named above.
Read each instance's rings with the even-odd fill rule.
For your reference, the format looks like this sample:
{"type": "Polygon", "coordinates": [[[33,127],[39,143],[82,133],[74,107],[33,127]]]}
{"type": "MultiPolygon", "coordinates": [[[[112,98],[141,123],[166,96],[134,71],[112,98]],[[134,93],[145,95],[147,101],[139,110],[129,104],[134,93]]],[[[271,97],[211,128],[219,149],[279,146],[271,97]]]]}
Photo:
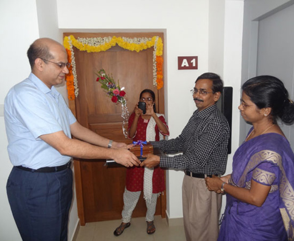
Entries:
{"type": "Polygon", "coordinates": [[[243,143],[233,158],[229,184],[271,186],[261,207],[226,194],[218,241],[294,240],[294,153],[286,138],[268,133],[243,143]]]}

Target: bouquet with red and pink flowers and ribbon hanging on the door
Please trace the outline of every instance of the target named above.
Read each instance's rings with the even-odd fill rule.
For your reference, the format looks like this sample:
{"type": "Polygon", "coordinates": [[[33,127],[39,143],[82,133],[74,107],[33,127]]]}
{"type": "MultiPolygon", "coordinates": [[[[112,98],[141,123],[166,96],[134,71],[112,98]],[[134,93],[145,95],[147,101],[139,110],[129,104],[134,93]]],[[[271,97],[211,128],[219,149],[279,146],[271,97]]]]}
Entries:
{"type": "Polygon", "coordinates": [[[96,81],[101,84],[101,88],[104,89],[107,96],[111,98],[111,101],[114,103],[120,102],[122,104],[122,117],[123,117],[123,135],[127,138],[127,122],[129,112],[126,106],[125,92],[124,87],[120,87],[120,82],[118,85],[115,83],[112,76],[108,75],[103,69],[96,72],[98,76],[96,81]]]}

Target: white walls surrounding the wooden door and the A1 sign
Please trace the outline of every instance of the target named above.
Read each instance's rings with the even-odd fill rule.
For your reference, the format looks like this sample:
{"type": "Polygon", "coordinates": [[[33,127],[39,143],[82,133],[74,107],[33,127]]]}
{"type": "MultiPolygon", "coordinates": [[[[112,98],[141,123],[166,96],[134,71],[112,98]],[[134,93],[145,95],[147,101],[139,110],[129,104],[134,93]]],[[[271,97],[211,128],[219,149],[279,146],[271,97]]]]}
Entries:
{"type": "MultiPolygon", "coordinates": [[[[0,31],[4,34],[1,34],[0,43],[11,48],[0,49],[0,105],[8,90],[29,74],[26,50],[39,36],[61,41],[63,30],[164,32],[166,116],[171,130],[170,138],[174,138],[181,133],[196,109],[189,91],[194,87],[198,75],[208,71],[219,73],[226,86],[234,87],[234,102],[236,98],[239,99],[239,93],[235,90],[240,89],[242,11],[243,0],[182,0],[173,1],[172,4],[169,0],[149,0],[141,5],[137,0],[84,0],[82,4],[79,0],[1,0],[0,31]],[[59,29],[56,29],[57,26],[59,29]],[[178,71],[177,56],[189,55],[198,56],[198,70],[178,71]]],[[[235,107],[233,143],[239,139],[239,111],[235,107]]],[[[0,217],[0,239],[18,241],[20,237],[5,191],[11,164],[6,151],[3,122],[0,116],[0,133],[3,137],[0,151],[4,157],[3,173],[0,173],[0,191],[3,193],[0,195],[0,205],[5,210],[0,217]]],[[[235,149],[236,146],[232,145],[232,152],[235,149]]],[[[231,166],[230,162],[228,166],[231,166]]],[[[170,218],[182,217],[182,179],[182,171],[168,171],[167,214],[170,218]]],[[[71,238],[76,224],[76,209],[70,215],[71,238]]]]}

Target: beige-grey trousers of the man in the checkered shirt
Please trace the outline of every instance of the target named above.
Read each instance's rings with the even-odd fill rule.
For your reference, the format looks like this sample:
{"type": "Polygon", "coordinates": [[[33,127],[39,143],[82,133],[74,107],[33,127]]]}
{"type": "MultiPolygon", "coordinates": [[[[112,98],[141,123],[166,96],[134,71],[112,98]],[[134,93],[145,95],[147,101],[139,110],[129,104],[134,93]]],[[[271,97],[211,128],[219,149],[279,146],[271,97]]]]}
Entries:
{"type": "Polygon", "coordinates": [[[184,176],[182,186],[187,241],[216,241],[219,235],[221,194],[210,192],[204,178],[184,176]]]}

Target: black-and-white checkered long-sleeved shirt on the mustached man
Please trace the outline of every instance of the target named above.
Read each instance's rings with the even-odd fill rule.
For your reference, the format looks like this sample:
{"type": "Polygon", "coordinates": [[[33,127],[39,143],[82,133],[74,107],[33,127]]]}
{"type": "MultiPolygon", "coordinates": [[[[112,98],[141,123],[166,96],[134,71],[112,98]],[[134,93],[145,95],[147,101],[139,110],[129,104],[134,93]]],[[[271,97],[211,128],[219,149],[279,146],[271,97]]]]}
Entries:
{"type": "Polygon", "coordinates": [[[183,153],[173,157],[161,156],[160,167],[207,175],[223,174],[229,135],[226,118],[216,105],[212,105],[202,111],[196,110],[177,138],[150,143],[166,153],[183,153]]]}

